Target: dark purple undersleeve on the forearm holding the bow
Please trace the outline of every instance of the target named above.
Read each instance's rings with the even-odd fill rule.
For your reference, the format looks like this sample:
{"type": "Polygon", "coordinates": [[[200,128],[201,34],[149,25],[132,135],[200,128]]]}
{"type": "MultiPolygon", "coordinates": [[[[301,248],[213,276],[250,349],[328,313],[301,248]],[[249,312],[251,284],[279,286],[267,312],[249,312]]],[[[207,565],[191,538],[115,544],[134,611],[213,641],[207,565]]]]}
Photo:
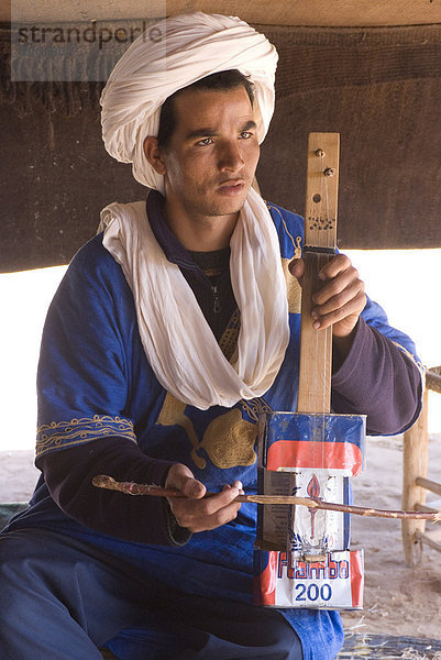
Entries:
{"type": "Polygon", "coordinates": [[[130,497],[96,488],[93,476],[165,485],[172,463],[151,459],[125,438],[104,438],[36,460],[52,498],[70,518],[126,541],[180,546],[191,534],[179,527],[162,497],[130,497]]]}

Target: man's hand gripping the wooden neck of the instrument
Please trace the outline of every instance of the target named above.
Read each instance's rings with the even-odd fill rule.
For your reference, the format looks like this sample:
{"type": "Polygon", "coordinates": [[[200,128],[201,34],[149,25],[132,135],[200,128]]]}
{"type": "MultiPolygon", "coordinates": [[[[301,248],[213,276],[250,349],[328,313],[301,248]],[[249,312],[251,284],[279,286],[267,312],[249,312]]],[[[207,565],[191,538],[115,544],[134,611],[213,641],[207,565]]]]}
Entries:
{"type": "MultiPolygon", "coordinates": [[[[291,274],[300,280],[305,262],[295,260],[289,264],[291,274]]],[[[312,322],[316,329],[332,324],[334,338],[349,338],[366,304],[364,283],[345,254],[333,256],[318,273],[323,286],[312,295],[312,322]]]]}

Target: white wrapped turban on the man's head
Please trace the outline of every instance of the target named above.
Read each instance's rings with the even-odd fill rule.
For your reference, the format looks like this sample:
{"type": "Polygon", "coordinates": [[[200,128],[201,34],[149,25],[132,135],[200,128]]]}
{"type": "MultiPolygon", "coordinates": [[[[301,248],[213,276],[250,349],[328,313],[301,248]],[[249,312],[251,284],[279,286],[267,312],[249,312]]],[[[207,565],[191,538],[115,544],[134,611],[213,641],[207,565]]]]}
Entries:
{"type": "Polygon", "coordinates": [[[164,193],[164,177],[144,155],[156,136],[161,107],[178,89],[211,74],[238,69],[255,88],[255,121],[262,142],[274,111],[277,52],[235,16],[196,12],[165,19],[146,30],[123,54],[101,95],[102,139],[109,154],[133,163],[133,176],[164,193]]]}

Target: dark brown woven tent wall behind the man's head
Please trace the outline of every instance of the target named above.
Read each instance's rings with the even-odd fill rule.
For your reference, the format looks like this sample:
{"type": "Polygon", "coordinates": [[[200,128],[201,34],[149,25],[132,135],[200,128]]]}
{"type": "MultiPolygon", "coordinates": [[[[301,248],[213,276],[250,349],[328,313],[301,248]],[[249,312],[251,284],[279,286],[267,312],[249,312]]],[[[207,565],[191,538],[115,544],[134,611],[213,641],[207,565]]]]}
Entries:
{"type": "MultiPolygon", "coordinates": [[[[301,213],[307,134],[337,131],[339,246],[440,248],[441,24],[254,26],[279,52],[276,111],[257,170],[264,197],[301,213]]],[[[1,164],[3,272],[67,263],[93,235],[103,206],[144,194],[130,166],[113,163],[100,143],[103,62],[90,82],[14,82],[10,37],[0,30],[0,121],[10,127],[1,164]]],[[[84,58],[89,46],[79,50],[84,58]]]]}

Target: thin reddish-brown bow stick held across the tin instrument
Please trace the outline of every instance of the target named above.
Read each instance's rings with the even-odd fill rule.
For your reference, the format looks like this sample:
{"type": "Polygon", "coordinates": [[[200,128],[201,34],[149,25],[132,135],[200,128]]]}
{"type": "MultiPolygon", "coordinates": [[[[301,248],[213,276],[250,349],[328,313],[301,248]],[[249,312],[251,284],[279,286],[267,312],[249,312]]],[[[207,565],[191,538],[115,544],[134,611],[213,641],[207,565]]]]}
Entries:
{"type": "MultiPolygon", "coordinates": [[[[108,491],[118,491],[125,495],[150,495],[153,497],[185,497],[180,491],[173,488],[163,488],[154,484],[137,484],[135,482],[118,482],[107,474],[99,474],[92,480],[93,486],[97,488],[106,488],[108,491]]],[[[205,497],[211,497],[216,493],[207,493],[205,497]]],[[[431,520],[432,522],[441,522],[441,512],[423,513],[423,512],[403,512],[393,509],[376,509],[363,506],[352,506],[349,504],[335,504],[332,502],[322,502],[315,497],[296,497],[294,495],[238,495],[234,502],[247,502],[254,504],[296,504],[307,506],[308,508],[327,509],[331,512],[342,512],[354,514],[356,516],[366,516],[371,518],[417,518],[420,520],[431,520]]]]}

